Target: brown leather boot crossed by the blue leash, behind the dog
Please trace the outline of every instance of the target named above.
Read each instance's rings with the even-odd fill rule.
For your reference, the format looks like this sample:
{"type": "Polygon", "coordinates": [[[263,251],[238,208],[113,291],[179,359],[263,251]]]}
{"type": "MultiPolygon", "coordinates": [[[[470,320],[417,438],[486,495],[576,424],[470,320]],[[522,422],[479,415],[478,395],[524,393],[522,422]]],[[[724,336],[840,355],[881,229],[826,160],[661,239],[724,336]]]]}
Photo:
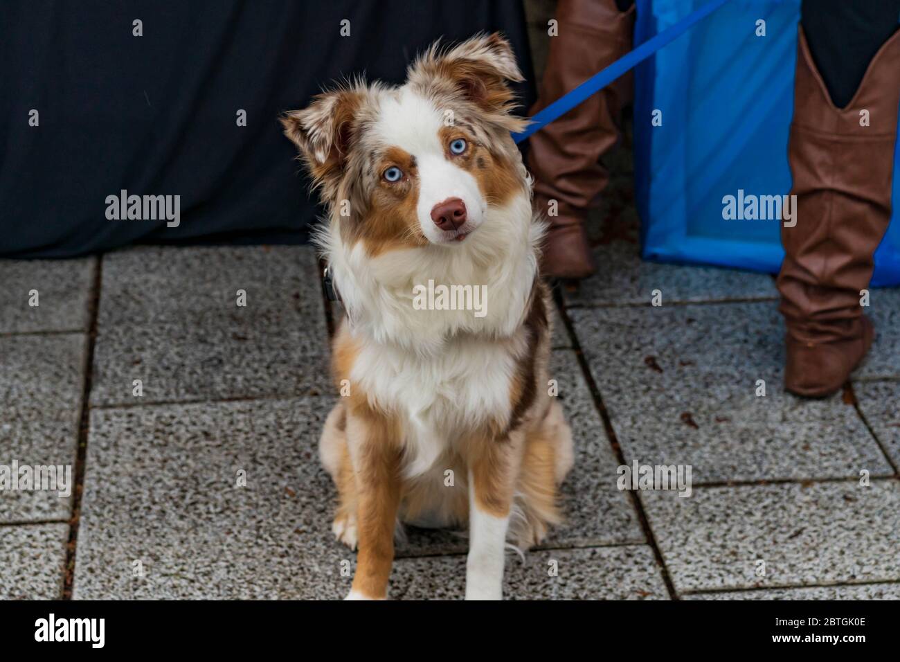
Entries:
{"type": "MultiPolygon", "coordinates": [[[[614,0],[560,0],[559,33],[550,38],[540,98],[530,113],[631,50],[634,15],[634,7],[620,12],[614,0]]],[[[609,174],[598,159],[619,140],[631,84],[630,73],[620,77],[531,137],[528,168],[535,177],[536,209],[550,222],[541,260],[546,276],[584,278],[595,271],[584,222],[607,186],[609,174]]]]}

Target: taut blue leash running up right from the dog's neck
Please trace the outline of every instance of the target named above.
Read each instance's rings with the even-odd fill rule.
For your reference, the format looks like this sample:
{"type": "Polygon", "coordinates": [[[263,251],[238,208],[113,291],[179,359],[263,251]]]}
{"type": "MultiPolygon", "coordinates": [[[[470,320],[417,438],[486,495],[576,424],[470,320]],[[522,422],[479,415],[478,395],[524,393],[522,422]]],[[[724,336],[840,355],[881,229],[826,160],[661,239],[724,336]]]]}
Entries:
{"type": "Polygon", "coordinates": [[[525,131],[512,134],[513,140],[516,142],[524,141],[535,131],[540,131],[550,122],[559,119],[565,113],[571,111],[576,105],[581,104],[581,102],[590,95],[599,92],[600,89],[608,86],[616,80],[617,77],[622,76],[626,71],[634,68],[638,62],[649,58],[657,50],[662,49],[667,43],[680,37],[681,34],[687,32],[694,23],[702,21],[709,14],[715,12],[716,9],[725,5],[727,1],[728,0],[712,0],[712,2],[703,5],[696,12],[685,16],[678,23],[666,28],[659,34],[653,35],[653,37],[644,41],[644,43],[635,50],[632,50],[624,57],[617,59],[607,68],[601,69],[599,73],[594,74],[592,77],[581,83],[580,86],[576,87],[571,92],[567,92],[565,95],[554,101],[553,104],[548,105],[544,110],[537,113],[531,118],[531,124],[528,125],[528,128],[525,131]]]}

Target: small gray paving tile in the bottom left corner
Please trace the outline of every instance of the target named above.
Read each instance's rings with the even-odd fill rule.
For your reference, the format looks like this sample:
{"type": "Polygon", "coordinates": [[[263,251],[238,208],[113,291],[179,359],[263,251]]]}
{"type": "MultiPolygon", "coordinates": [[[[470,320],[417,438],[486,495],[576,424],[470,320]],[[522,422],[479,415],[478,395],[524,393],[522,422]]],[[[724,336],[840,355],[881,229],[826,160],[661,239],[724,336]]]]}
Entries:
{"type": "Polygon", "coordinates": [[[62,597],[68,524],[0,526],[0,600],[62,597]]]}

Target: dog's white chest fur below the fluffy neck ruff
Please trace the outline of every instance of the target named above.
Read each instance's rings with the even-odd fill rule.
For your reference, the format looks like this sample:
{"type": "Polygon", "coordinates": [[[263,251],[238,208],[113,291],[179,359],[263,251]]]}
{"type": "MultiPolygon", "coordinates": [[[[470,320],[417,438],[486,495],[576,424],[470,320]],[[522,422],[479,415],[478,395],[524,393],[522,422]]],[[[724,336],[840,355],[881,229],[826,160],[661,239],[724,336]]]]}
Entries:
{"type": "Polygon", "coordinates": [[[400,416],[405,475],[427,471],[466,431],[509,419],[515,344],[463,336],[420,356],[363,343],[351,381],[400,416]]]}

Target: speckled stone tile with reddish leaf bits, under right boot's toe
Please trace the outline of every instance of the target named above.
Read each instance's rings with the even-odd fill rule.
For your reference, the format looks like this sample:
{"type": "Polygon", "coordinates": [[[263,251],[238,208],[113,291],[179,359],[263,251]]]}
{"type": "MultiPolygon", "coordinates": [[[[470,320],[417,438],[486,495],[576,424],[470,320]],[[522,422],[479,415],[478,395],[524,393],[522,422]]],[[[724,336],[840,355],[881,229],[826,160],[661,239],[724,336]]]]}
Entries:
{"type": "Polygon", "coordinates": [[[783,390],[774,302],[569,314],[629,463],[689,465],[695,484],[893,473],[840,394],[783,390]]]}

